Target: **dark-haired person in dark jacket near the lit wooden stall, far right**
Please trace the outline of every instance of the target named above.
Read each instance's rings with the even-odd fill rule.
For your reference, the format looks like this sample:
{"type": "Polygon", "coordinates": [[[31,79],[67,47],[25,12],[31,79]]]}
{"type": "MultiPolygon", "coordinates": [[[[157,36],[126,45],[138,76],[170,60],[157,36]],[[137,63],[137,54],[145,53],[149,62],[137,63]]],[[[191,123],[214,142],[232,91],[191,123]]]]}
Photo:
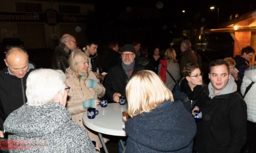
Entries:
{"type": "Polygon", "coordinates": [[[242,49],[241,56],[234,57],[236,61],[236,68],[239,70],[239,77],[241,80],[244,78],[244,71],[249,67],[249,59],[254,56],[255,50],[251,46],[246,46],[242,49]]]}

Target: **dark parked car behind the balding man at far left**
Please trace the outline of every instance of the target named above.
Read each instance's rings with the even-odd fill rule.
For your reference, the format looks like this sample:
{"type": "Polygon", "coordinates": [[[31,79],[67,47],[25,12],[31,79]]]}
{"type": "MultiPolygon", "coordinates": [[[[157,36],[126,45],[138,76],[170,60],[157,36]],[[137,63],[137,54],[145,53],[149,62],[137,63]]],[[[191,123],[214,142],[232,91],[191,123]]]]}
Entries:
{"type": "Polygon", "coordinates": [[[0,68],[2,69],[5,66],[5,54],[7,52],[8,49],[10,49],[10,47],[13,46],[19,46],[19,47],[23,47],[24,48],[24,42],[22,40],[20,40],[20,38],[3,38],[2,42],[0,44],[0,68]]]}

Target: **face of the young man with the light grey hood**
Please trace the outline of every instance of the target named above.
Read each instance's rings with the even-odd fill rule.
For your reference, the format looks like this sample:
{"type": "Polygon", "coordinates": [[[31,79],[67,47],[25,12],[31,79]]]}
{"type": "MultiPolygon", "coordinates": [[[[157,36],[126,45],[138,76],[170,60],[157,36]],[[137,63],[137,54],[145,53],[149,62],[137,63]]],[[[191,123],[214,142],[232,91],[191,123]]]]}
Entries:
{"type": "Polygon", "coordinates": [[[226,65],[212,66],[209,73],[209,79],[212,86],[214,86],[214,93],[219,93],[228,83],[230,74],[226,65]]]}

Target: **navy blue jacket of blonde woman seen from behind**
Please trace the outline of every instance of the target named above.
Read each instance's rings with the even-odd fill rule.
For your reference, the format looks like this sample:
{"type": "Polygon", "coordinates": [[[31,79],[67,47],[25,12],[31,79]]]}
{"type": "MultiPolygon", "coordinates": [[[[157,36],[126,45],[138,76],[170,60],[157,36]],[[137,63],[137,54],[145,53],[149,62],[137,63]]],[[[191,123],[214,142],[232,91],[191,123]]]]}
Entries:
{"type": "Polygon", "coordinates": [[[125,132],[128,136],[126,153],[191,153],[196,123],[181,101],[166,101],[150,113],[127,120],[125,132]]]}

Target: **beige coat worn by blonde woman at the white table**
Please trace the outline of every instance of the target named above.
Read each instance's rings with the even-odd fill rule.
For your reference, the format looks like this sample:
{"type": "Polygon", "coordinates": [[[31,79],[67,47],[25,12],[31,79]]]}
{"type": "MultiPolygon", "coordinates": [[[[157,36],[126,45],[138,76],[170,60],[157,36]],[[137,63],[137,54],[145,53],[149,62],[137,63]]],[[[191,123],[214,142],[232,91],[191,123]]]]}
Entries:
{"type": "MultiPolygon", "coordinates": [[[[88,79],[98,82],[95,74],[90,68],[87,80],[88,79]]],[[[72,115],[72,120],[77,122],[79,125],[84,126],[82,122],[82,114],[87,111],[87,108],[83,108],[82,102],[92,98],[97,99],[98,97],[103,97],[105,94],[105,88],[100,83],[98,83],[94,89],[87,88],[86,85],[84,85],[83,80],[79,81],[77,79],[75,72],[70,67],[66,69],[66,85],[70,87],[66,107],[72,115]]],[[[101,147],[97,133],[91,130],[88,131],[91,140],[96,141],[97,146],[101,147]]]]}

